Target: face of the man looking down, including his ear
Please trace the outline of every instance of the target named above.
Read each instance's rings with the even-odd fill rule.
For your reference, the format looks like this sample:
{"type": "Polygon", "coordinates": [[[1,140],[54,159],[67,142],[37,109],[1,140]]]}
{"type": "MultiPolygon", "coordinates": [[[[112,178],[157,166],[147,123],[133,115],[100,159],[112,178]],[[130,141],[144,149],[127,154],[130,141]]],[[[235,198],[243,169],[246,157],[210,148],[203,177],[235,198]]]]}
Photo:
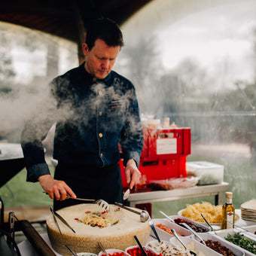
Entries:
{"type": "Polygon", "coordinates": [[[97,79],[105,78],[114,66],[117,55],[120,52],[120,46],[109,47],[102,39],[96,39],[91,50],[87,44],[83,44],[84,55],[87,56],[85,69],[90,75],[97,79]]]}

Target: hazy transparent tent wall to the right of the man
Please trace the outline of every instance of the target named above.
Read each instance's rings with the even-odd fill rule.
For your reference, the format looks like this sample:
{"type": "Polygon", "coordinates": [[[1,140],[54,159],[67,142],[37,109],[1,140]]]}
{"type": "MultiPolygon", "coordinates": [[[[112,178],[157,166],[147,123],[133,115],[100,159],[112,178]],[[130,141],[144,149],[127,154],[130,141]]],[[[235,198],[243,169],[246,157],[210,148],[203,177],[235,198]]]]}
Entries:
{"type": "Polygon", "coordinates": [[[224,165],[236,208],[255,194],[255,10],[254,1],[151,2],[123,25],[115,67],[143,114],[191,127],[187,161],[224,165]]]}

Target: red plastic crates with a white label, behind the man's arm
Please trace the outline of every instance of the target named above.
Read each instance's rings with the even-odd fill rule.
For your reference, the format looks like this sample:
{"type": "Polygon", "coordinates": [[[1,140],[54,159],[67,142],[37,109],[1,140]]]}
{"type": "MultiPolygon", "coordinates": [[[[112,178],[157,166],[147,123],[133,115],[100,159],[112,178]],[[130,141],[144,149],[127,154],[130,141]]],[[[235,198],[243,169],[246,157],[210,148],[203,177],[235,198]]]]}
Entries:
{"type": "MultiPolygon", "coordinates": [[[[190,128],[143,128],[144,146],[139,163],[142,175],[151,180],[184,178],[187,176],[186,160],[191,153],[190,128]]],[[[120,160],[123,187],[127,187],[123,160],[120,160]]]]}

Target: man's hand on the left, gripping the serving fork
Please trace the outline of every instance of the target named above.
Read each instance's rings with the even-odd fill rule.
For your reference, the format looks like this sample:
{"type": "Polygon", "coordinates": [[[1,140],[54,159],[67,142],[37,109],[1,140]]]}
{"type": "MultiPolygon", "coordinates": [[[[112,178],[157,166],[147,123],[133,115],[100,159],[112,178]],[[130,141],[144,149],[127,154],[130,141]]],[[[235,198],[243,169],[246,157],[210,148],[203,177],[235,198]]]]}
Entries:
{"type": "Polygon", "coordinates": [[[67,195],[76,198],[75,193],[65,181],[58,181],[52,178],[50,174],[41,175],[38,181],[51,199],[66,200],[67,195]]]}

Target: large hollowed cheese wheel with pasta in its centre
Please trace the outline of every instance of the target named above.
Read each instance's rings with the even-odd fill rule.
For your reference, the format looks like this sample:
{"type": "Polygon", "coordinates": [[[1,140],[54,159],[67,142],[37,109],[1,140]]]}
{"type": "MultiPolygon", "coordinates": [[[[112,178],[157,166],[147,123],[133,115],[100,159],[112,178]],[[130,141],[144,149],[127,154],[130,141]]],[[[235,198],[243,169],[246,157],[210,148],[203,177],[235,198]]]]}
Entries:
{"type": "MultiPolygon", "coordinates": [[[[142,211],[137,210],[138,212],[142,211]]],[[[70,255],[67,248],[62,245],[68,245],[77,253],[88,251],[98,254],[99,251],[102,251],[98,242],[101,242],[106,249],[125,250],[131,245],[137,245],[136,239],[134,239],[135,235],[142,242],[142,245],[145,245],[148,241],[150,233],[148,222],[141,222],[139,215],[118,206],[110,205],[110,211],[107,214],[104,214],[104,209],[97,204],[79,204],[56,212],[75,230],[74,233],[56,217],[62,232],[60,234],[53,215],[47,218],[46,225],[50,243],[53,249],[62,255],[70,255]],[[85,224],[84,219],[88,216],[88,213],[92,212],[98,212],[101,217],[104,216],[105,220],[110,221],[111,224],[108,224],[107,227],[92,227],[90,224],[85,224]]]]}

